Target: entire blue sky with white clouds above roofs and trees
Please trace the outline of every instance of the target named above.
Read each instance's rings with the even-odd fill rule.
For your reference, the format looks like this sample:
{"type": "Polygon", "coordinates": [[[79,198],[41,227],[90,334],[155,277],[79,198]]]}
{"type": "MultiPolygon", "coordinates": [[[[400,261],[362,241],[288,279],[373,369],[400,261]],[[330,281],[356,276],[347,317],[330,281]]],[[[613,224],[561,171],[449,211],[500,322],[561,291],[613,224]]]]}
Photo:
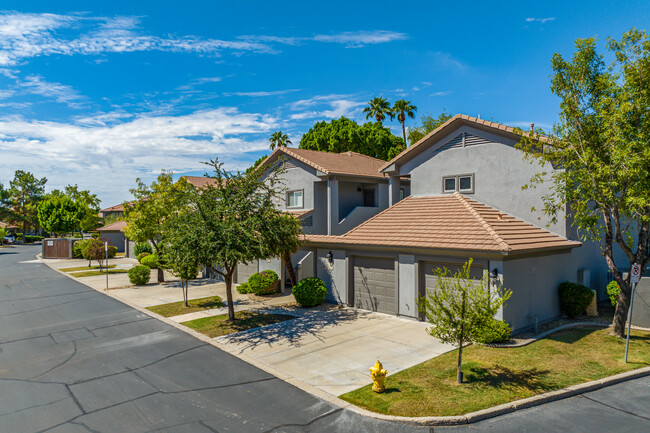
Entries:
{"type": "Polygon", "coordinates": [[[647,1],[1,5],[0,182],[29,170],[103,206],[161,169],[244,169],[276,130],[297,146],[316,121],[361,122],[374,96],[550,128],[553,53],[650,22],[647,1]]]}

